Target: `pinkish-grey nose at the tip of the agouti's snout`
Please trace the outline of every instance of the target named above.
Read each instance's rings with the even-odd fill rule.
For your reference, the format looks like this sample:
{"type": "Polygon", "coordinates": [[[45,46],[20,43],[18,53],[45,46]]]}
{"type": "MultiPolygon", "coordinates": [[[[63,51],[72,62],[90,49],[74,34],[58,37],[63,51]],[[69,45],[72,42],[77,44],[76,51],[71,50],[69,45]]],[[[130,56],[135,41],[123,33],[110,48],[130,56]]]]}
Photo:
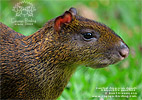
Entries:
{"type": "Polygon", "coordinates": [[[121,49],[119,50],[119,54],[122,59],[126,58],[129,54],[129,48],[124,43],[121,43],[121,49]]]}

